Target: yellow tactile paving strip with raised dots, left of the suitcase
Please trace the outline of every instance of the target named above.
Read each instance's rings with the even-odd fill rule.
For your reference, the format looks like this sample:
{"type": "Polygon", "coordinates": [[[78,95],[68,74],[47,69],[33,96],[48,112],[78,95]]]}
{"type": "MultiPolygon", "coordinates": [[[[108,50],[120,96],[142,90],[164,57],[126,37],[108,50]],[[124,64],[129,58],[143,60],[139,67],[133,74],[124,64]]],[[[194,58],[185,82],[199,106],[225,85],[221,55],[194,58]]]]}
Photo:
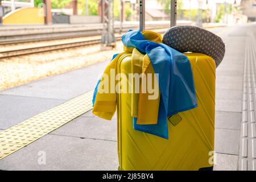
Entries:
{"type": "Polygon", "coordinates": [[[93,90],[0,132],[0,160],[92,109],[93,90]]]}

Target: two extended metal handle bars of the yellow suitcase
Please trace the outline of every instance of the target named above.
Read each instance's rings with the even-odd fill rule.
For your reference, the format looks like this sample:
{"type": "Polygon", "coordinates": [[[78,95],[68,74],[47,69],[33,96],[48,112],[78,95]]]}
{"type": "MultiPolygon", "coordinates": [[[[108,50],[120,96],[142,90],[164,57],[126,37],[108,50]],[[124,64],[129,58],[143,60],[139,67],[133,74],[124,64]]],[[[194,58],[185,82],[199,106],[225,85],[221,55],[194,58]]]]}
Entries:
{"type": "MultiPolygon", "coordinates": [[[[176,26],[177,0],[171,0],[171,27],[176,26]]],[[[145,30],[145,0],[139,0],[139,31],[145,30]]]]}

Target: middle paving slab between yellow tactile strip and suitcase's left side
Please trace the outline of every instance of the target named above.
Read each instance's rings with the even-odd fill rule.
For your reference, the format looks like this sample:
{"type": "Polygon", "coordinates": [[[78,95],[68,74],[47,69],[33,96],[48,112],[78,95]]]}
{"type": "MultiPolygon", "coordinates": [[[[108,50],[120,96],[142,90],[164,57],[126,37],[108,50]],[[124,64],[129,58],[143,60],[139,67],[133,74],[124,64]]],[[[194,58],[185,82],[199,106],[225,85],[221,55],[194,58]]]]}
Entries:
{"type": "Polygon", "coordinates": [[[51,134],[117,141],[117,121],[96,117],[79,117],[51,134]]]}

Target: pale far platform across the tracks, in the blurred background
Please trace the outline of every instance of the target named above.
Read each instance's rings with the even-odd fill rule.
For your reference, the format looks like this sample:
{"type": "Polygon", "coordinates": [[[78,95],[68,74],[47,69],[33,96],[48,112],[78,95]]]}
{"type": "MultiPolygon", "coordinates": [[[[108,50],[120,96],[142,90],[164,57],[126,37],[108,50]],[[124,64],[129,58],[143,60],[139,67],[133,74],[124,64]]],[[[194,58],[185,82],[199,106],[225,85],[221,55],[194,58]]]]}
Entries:
{"type": "MultiPolygon", "coordinates": [[[[139,22],[123,22],[120,30],[120,22],[114,23],[115,32],[126,32],[130,28],[138,28],[139,22]]],[[[179,25],[191,25],[189,20],[177,20],[179,25]]],[[[224,23],[204,23],[204,28],[223,27],[224,23]]],[[[170,21],[148,21],[147,30],[170,27],[170,21]]],[[[102,34],[102,23],[90,24],[38,24],[38,25],[5,25],[0,26],[0,45],[18,42],[31,42],[35,40],[53,40],[63,38],[76,38],[82,36],[95,36],[102,34]]]]}

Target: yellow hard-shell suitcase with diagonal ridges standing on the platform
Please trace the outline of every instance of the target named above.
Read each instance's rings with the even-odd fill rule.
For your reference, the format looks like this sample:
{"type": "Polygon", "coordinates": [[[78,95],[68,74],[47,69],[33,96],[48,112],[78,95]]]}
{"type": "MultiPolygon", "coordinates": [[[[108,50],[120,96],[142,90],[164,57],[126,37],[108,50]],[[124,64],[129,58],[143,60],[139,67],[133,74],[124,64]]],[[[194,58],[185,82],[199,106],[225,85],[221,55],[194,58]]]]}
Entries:
{"type": "MultiPolygon", "coordinates": [[[[215,63],[200,53],[185,55],[191,62],[198,106],[168,118],[168,140],[134,130],[131,94],[118,94],[119,170],[212,169],[215,63]]],[[[120,57],[117,72],[131,73],[130,53],[120,57]]]]}

